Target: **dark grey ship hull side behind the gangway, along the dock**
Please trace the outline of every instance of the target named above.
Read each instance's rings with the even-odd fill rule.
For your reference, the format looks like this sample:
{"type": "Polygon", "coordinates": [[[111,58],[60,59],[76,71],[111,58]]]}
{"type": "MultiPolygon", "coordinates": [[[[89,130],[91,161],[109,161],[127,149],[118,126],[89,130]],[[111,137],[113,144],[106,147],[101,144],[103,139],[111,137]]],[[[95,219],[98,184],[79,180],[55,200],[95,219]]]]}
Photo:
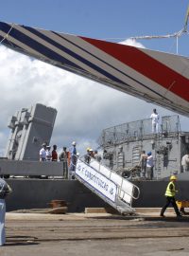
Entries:
{"type": "MultiPolygon", "coordinates": [[[[82,212],[85,208],[101,208],[108,205],[77,180],[8,179],[13,192],[7,198],[7,210],[48,208],[51,200],[65,200],[69,212],[82,212]]],[[[178,180],[178,200],[189,199],[187,180],[178,180]]],[[[160,208],[165,202],[167,180],[135,181],[140,197],[133,200],[133,208],[160,208]]]]}

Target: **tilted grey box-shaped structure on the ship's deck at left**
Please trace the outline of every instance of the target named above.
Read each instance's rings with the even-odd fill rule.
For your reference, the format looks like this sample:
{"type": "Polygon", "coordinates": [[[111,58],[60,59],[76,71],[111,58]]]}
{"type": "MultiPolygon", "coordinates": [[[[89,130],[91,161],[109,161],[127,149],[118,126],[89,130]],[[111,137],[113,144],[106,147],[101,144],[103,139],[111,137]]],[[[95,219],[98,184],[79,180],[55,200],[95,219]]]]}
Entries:
{"type": "Polygon", "coordinates": [[[10,160],[39,160],[43,142],[49,144],[57,110],[37,103],[16,111],[9,119],[5,157],[10,160]]]}

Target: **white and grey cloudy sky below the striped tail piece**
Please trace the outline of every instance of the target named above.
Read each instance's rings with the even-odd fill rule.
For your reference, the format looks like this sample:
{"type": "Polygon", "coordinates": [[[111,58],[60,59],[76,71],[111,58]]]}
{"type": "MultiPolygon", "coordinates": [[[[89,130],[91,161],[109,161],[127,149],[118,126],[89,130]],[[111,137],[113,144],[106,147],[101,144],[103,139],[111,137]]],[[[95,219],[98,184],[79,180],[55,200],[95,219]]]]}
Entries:
{"type": "MultiPolygon", "coordinates": [[[[97,146],[102,129],[146,119],[154,107],[4,46],[0,46],[0,66],[0,155],[9,136],[9,118],[17,110],[38,102],[58,110],[51,144],[61,148],[76,140],[81,154],[86,147],[97,146]]],[[[161,115],[171,114],[163,108],[157,109],[161,115]]]]}

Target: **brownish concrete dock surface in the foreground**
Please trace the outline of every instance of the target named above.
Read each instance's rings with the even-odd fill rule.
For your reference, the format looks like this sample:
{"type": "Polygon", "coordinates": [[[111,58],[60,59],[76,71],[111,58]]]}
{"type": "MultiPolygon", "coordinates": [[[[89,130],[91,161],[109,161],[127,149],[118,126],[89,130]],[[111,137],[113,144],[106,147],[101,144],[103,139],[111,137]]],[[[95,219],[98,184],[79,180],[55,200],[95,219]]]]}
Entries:
{"type": "Polygon", "coordinates": [[[132,216],[8,212],[0,255],[188,255],[189,216],[165,215],[159,209],[132,216]]]}

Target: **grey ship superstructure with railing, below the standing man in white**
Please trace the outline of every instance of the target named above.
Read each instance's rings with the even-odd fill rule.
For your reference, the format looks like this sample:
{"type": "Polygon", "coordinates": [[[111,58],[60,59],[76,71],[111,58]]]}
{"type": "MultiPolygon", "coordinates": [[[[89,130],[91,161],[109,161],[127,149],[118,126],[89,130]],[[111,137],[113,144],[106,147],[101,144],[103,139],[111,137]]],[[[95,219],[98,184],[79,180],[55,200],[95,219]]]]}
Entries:
{"type": "MultiPolygon", "coordinates": [[[[142,151],[151,152],[153,179],[161,179],[182,173],[181,157],[189,152],[189,132],[181,132],[179,116],[165,116],[158,133],[152,133],[151,119],[141,119],[104,129],[98,143],[105,164],[117,173],[137,169],[142,151]]],[[[140,168],[137,171],[134,177],[140,178],[140,168]]]]}

